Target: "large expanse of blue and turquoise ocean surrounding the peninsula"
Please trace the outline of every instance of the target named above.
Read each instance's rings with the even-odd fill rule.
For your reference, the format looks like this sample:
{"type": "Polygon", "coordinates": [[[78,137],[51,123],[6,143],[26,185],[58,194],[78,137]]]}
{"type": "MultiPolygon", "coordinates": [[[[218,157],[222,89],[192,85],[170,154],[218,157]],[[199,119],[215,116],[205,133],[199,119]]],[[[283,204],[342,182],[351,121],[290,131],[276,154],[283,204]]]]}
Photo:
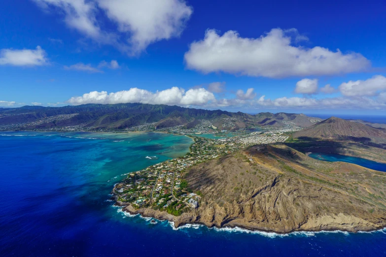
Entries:
{"type": "Polygon", "coordinates": [[[122,174],[183,155],[192,142],[188,137],[0,134],[1,257],[386,256],[386,230],[287,235],[200,225],[175,230],[166,221],[152,225],[112,206],[108,194],[122,174]]]}

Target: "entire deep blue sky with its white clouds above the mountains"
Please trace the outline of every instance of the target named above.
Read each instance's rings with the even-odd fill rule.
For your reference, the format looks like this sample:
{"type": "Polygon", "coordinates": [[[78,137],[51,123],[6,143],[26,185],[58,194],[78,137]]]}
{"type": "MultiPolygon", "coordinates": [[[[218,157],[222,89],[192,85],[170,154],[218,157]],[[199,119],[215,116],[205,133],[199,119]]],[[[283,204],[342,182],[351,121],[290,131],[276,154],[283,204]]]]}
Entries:
{"type": "Polygon", "coordinates": [[[246,112],[386,109],[382,0],[0,5],[0,107],[144,102],[246,112]]]}

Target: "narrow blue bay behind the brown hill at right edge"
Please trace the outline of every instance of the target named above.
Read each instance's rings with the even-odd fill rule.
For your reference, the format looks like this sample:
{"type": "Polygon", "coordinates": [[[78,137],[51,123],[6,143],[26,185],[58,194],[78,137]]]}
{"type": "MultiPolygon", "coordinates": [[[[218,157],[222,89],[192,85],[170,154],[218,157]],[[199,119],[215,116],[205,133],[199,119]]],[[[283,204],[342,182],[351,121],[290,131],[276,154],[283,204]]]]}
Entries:
{"type": "Polygon", "coordinates": [[[363,158],[338,155],[338,154],[322,154],[322,153],[312,153],[309,154],[309,157],[312,157],[320,161],[344,161],[354,163],[369,169],[386,171],[386,163],[381,163],[377,161],[370,161],[363,158]]]}

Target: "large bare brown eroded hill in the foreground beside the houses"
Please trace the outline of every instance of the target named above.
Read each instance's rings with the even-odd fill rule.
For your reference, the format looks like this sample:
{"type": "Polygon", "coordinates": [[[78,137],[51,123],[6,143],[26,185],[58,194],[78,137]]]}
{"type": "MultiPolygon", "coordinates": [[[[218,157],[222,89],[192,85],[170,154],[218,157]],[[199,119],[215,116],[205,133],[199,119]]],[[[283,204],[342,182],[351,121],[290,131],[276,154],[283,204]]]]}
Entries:
{"type": "Polygon", "coordinates": [[[200,207],[175,224],[276,232],[372,230],[386,225],[386,173],[317,161],[285,145],[254,146],[185,173],[200,207]]]}

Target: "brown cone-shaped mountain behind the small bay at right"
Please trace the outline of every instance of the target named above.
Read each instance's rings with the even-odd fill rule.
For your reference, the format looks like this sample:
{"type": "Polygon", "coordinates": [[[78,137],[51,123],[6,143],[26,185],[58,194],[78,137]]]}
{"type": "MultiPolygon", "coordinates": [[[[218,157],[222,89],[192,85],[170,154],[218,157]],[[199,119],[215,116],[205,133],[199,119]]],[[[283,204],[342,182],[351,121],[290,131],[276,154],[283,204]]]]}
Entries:
{"type": "Polygon", "coordinates": [[[386,131],[384,129],[372,128],[360,123],[331,117],[293,134],[293,138],[300,137],[385,143],[386,131]]]}

